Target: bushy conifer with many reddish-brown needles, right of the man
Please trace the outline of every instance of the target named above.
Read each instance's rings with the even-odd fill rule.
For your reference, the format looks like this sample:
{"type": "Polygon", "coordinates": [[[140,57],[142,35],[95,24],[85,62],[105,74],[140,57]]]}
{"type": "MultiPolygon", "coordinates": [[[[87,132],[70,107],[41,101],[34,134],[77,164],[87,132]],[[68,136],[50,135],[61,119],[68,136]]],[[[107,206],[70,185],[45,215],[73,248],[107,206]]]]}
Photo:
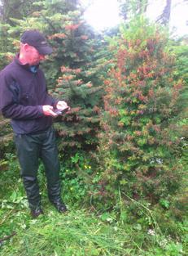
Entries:
{"type": "Polygon", "coordinates": [[[168,209],[184,171],[177,126],[185,107],[184,82],[173,76],[175,56],[168,51],[168,36],[142,17],[129,29],[121,28],[114,48],[113,67],[104,78],[103,195],[115,200],[120,187],[135,200],[145,198],[168,209]]]}

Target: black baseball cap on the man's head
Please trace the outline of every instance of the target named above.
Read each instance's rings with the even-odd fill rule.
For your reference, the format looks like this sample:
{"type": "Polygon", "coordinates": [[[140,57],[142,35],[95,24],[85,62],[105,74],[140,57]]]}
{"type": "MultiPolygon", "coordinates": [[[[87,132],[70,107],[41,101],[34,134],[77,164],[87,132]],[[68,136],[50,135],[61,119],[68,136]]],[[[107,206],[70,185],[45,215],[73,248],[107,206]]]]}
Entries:
{"type": "Polygon", "coordinates": [[[51,54],[53,52],[52,48],[46,42],[46,38],[36,29],[26,30],[24,34],[22,34],[20,42],[28,43],[28,45],[35,47],[42,55],[51,54]]]}

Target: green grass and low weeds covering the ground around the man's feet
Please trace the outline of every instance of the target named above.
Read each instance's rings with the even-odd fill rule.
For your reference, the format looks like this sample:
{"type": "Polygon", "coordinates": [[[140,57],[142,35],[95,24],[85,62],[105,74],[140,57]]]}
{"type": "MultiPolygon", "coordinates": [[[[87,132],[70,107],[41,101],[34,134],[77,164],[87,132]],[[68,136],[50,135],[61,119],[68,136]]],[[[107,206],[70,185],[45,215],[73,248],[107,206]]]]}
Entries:
{"type": "MultiPolygon", "coordinates": [[[[164,232],[162,224],[155,221],[155,215],[149,209],[145,209],[146,215],[136,220],[129,216],[125,207],[121,212],[116,209],[111,212],[98,211],[91,205],[77,201],[73,203],[71,195],[70,200],[66,195],[68,213],[60,214],[47,199],[46,184],[42,177],[42,206],[45,214],[32,219],[18,164],[10,159],[8,166],[1,173],[0,180],[0,240],[15,235],[2,241],[0,256],[186,255],[186,222],[180,223],[182,236],[172,237],[164,232]],[[149,218],[155,225],[146,223],[149,218]]],[[[136,204],[135,207],[144,210],[142,204],[136,204]]]]}

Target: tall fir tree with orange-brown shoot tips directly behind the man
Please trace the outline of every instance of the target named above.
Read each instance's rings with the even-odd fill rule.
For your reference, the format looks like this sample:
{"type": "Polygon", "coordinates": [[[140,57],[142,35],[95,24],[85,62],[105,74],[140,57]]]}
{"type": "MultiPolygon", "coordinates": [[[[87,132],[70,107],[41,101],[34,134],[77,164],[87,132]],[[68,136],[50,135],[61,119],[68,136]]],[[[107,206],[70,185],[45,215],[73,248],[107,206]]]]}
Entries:
{"type": "Polygon", "coordinates": [[[39,29],[46,35],[53,47],[49,60],[42,63],[49,92],[67,100],[72,107],[71,112],[57,119],[59,135],[63,135],[60,144],[96,146],[98,108],[102,105],[103,94],[97,74],[101,65],[97,61],[102,44],[98,44],[98,37],[83,19],[83,10],[77,1],[45,0],[34,2],[33,6],[31,16],[11,19],[15,25],[8,32],[15,38],[15,49],[19,47],[20,34],[26,29],[39,29]],[[79,109],[77,114],[75,109],[79,109]]]}

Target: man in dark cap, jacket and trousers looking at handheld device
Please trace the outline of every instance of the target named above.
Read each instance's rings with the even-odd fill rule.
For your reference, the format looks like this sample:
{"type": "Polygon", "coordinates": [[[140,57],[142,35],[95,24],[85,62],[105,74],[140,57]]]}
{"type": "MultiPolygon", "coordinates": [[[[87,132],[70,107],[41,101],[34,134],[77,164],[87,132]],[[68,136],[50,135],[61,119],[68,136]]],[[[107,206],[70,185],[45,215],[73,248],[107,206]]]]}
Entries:
{"type": "Polygon", "coordinates": [[[43,213],[37,183],[38,159],[46,171],[49,200],[64,213],[61,200],[59,159],[52,119],[55,110],[68,109],[65,101],[50,97],[40,61],[52,53],[46,38],[37,30],[27,30],[20,39],[20,54],[0,72],[0,110],[11,119],[28,205],[33,218],[43,213]]]}

